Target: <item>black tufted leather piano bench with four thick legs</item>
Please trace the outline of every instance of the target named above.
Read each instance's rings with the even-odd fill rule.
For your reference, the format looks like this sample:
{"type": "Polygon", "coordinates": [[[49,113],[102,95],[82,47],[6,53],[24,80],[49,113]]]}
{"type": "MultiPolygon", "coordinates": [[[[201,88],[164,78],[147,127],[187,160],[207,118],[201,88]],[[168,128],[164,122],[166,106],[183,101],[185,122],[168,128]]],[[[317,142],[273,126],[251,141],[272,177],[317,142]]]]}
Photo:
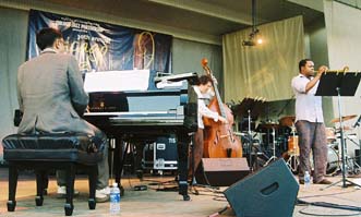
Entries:
{"type": "Polygon", "coordinates": [[[9,162],[8,212],[14,212],[20,169],[34,169],[36,173],[37,206],[43,205],[47,173],[51,169],[67,171],[67,202],[64,210],[71,216],[74,209],[73,192],[76,167],[88,171],[89,209],[95,209],[97,162],[101,160],[103,145],[96,145],[92,136],[83,133],[12,134],[2,140],[3,158],[9,162]]]}

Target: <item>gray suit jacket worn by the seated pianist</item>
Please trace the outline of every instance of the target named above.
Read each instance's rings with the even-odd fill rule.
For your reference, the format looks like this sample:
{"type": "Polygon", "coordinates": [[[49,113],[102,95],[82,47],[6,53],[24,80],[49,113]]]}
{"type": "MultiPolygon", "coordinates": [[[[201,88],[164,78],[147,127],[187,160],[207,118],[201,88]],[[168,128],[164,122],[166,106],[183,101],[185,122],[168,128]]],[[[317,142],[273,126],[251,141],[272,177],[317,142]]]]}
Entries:
{"type": "Polygon", "coordinates": [[[17,72],[17,97],[23,119],[19,133],[83,132],[93,125],[81,118],[88,96],[73,56],[45,49],[23,63],[17,72]]]}

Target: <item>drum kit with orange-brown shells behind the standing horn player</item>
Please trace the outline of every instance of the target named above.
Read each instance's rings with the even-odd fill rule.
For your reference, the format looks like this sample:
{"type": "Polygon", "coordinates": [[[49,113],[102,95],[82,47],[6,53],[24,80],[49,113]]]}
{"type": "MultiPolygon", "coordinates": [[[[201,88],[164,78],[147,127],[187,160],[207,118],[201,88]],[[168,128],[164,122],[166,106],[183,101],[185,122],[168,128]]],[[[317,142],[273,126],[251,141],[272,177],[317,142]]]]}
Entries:
{"type": "MultiPolygon", "coordinates": [[[[357,116],[345,116],[342,121],[352,120],[357,116]]],[[[253,145],[256,149],[257,155],[262,154],[262,159],[257,160],[257,166],[265,167],[273,160],[282,157],[290,170],[294,173],[298,172],[299,167],[299,136],[294,126],[296,117],[286,116],[279,119],[278,123],[275,122],[263,122],[257,125],[255,129],[255,135],[258,134],[258,140],[254,140],[253,143],[258,145],[253,145]],[[260,164],[261,162],[261,164],[260,164]]],[[[330,121],[333,124],[337,124],[339,119],[333,119],[330,121]]],[[[344,133],[350,132],[352,128],[344,126],[344,133]]],[[[341,157],[340,157],[340,147],[338,143],[340,129],[337,128],[326,128],[326,138],[327,138],[327,168],[326,174],[336,174],[341,170],[341,157]]],[[[254,133],[252,133],[254,134],[254,133]]],[[[256,137],[256,136],[253,136],[256,137]]],[[[345,140],[349,140],[346,135],[345,140]]],[[[249,140],[243,141],[243,148],[248,146],[249,140]]],[[[359,146],[359,144],[357,144],[359,146]]],[[[252,155],[251,152],[243,152],[245,154],[252,155]]],[[[254,154],[254,153],[253,153],[254,154]]],[[[347,160],[346,170],[348,174],[358,174],[360,173],[360,166],[356,160],[346,155],[347,160]]],[[[313,166],[312,156],[310,157],[311,165],[313,166]]],[[[253,167],[253,166],[252,166],[253,167]]]]}

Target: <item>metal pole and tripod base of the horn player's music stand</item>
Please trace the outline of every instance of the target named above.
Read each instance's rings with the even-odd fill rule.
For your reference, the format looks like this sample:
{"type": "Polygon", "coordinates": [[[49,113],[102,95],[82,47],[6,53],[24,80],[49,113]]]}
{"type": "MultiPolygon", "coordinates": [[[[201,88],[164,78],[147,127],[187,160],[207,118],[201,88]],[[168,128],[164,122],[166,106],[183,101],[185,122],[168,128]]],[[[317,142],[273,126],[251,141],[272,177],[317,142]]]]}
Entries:
{"type": "Polygon", "coordinates": [[[342,170],[342,179],[339,180],[339,181],[337,181],[337,182],[334,182],[334,183],[329,184],[328,186],[323,188],[323,189],[321,189],[321,190],[328,189],[328,188],[334,186],[334,185],[336,185],[336,184],[338,184],[338,183],[340,183],[340,182],[342,182],[342,188],[347,188],[346,182],[348,182],[348,183],[350,183],[350,184],[358,185],[358,186],[361,188],[360,184],[357,184],[357,183],[351,182],[350,180],[346,179],[346,174],[345,174],[345,172],[346,172],[346,162],[345,162],[345,160],[346,160],[346,155],[345,155],[345,152],[347,152],[347,150],[346,150],[346,145],[345,145],[345,142],[346,142],[346,141],[345,141],[345,136],[344,136],[344,122],[342,122],[341,104],[340,104],[340,100],[341,100],[341,99],[340,99],[340,98],[341,98],[341,97],[340,97],[340,88],[337,87],[336,91],[337,91],[338,116],[339,116],[339,125],[340,125],[340,134],[341,134],[341,162],[342,162],[341,170],[342,170]]]}

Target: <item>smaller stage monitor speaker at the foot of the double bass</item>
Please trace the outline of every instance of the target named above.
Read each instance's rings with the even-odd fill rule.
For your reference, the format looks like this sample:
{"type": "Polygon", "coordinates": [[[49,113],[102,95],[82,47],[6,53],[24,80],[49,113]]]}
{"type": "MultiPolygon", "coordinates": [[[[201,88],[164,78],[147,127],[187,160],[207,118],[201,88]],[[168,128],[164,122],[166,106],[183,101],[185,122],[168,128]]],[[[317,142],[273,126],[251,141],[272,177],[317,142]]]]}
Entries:
{"type": "Polygon", "coordinates": [[[210,186],[229,186],[250,173],[245,158],[202,158],[202,166],[196,181],[210,186]]]}

